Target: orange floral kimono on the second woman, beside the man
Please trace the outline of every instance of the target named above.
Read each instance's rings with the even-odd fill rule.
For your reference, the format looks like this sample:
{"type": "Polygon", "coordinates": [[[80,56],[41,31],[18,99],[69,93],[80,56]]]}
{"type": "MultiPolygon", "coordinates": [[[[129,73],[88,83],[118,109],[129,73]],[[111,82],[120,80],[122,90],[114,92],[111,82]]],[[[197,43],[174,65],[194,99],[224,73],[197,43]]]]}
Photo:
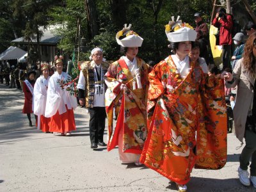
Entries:
{"type": "Polygon", "coordinates": [[[141,154],[147,137],[149,66],[140,58],[136,59],[138,68],[140,68],[142,88],[138,88],[136,78],[132,77],[123,58],[112,63],[105,75],[105,82],[108,85],[105,94],[108,115],[108,151],[118,145],[120,130],[123,131],[122,151],[125,153],[141,154]],[[121,84],[127,86],[127,89],[122,92],[120,91],[121,84]],[[136,86],[135,89],[134,85],[136,86]],[[113,108],[115,108],[115,114],[118,116],[114,128],[113,108]]]}

